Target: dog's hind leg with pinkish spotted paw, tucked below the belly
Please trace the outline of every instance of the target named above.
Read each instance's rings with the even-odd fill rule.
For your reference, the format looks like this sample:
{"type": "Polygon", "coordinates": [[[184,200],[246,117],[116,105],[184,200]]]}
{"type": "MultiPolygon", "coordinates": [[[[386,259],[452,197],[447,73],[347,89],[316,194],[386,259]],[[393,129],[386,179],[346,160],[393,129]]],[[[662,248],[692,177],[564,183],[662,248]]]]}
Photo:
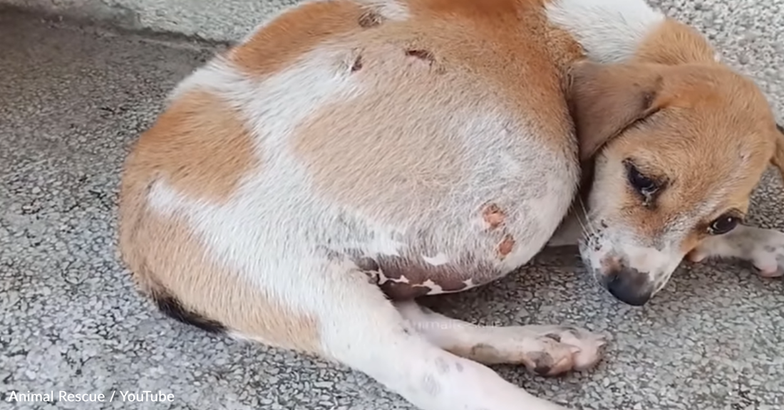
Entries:
{"type": "Polygon", "coordinates": [[[525,365],[542,376],[589,369],[601,359],[606,344],[602,336],[569,326],[479,326],[416,302],[397,303],[397,309],[414,329],[445,351],[487,365],[525,365]]]}

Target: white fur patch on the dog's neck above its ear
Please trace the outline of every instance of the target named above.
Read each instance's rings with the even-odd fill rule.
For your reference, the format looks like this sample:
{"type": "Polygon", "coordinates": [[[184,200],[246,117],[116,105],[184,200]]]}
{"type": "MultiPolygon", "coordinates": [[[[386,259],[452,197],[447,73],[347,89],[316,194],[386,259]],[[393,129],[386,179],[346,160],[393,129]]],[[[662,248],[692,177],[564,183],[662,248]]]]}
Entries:
{"type": "Polygon", "coordinates": [[[644,0],[555,0],[546,5],[548,19],[572,33],[587,56],[618,63],[663,23],[664,14],[644,0]]]}

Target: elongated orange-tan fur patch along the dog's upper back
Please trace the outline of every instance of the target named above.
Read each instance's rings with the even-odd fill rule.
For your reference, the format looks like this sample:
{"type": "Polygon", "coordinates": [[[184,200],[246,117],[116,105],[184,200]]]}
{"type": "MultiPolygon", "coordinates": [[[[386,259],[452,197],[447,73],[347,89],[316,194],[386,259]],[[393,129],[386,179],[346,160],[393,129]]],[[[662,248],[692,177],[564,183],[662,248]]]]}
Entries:
{"type": "Polygon", "coordinates": [[[266,77],[330,39],[373,27],[381,18],[348,0],[310,2],[278,16],[229,53],[245,73],[266,77]]]}

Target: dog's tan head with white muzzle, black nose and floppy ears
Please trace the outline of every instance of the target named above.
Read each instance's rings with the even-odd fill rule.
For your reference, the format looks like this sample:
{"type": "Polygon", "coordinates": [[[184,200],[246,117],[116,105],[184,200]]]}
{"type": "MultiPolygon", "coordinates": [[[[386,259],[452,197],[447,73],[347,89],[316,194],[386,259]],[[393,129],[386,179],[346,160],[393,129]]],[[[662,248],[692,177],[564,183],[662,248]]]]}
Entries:
{"type": "Polygon", "coordinates": [[[646,303],[703,239],[746,215],[784,134],[752,81],[718,63],[577,63],[570,101],[592,181],[580,253],[628,304],[646,303]]]}

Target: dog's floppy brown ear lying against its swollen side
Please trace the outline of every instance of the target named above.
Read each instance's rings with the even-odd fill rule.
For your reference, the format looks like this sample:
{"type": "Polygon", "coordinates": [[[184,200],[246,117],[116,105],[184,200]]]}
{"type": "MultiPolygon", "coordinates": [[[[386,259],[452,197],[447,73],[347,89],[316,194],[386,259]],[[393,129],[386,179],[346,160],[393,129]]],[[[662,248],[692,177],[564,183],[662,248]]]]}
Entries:
{"type": "Polygon", "coordinates": [[[590,160],[604,144],[661,108],[662,65],[575,63],[569,71],[568,99],[575,121],[580,160],[590,160]]]}

